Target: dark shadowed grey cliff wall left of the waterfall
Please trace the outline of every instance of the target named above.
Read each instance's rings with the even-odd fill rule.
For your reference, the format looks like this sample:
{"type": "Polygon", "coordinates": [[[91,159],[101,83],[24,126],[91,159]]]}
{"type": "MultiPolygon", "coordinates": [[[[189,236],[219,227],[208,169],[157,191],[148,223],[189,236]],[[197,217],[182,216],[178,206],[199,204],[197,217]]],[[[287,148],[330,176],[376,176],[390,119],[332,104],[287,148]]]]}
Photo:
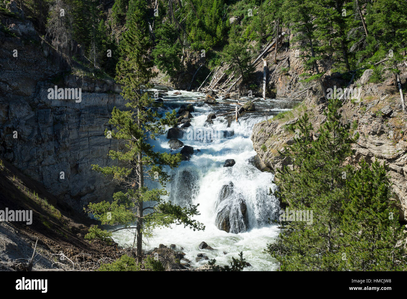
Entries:
{"type": "Polygon", "coordinates": [[[0,31],[0,155],[75,211],[111,199],[115,186],[91,164],[112,165],[109,149],[121,148],[104,135],[113,107],[124,107],[120,88],[70,75],[30,21],[0,20],[10,28],[0,31]],[[49,99],[55,85],[81,88],[81,102],[49,99]]]}

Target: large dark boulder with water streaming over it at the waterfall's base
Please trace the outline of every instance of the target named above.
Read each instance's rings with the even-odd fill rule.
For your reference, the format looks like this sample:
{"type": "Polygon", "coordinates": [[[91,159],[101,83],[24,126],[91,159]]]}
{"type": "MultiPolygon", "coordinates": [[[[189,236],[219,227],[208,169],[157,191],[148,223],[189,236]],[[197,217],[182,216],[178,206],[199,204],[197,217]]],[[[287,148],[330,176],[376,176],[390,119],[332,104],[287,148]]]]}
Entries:
{"type": "Polygon", "coordinates": [[[247,206],[243,194],[234,190],[232,182],[223,185],[217,201],[216,226],[228,233],[247,231],[247,206]]]}

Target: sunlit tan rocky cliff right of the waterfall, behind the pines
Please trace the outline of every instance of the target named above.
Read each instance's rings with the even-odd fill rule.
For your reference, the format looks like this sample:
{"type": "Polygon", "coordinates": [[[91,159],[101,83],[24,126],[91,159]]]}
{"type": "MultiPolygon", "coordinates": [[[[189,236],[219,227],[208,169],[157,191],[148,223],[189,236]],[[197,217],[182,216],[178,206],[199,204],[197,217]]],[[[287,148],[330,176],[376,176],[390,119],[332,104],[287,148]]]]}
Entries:
{"type": "MultiPolygon", "coordinates": [[[[349,163],[357,165],[360,159],[388,165],[394,190],[395,204],[400,210],[400,220],[407,221],[407,136],[406,118],[401,110],[400,94],[395,79],[389,76],[384,83],[368,83],[371,70],[366,70],[363,76],[350,87],[361,88],[360,101],[344,100],[343,121],[351,123],[354,133],[359,132],[359,140],[354,144],[356,154],[349,163]]],[[[401,80],[405,83],[407,68],[401,69],[401,80]]],[[[346,85],[346,82],[332,82],[333,85],[346,85]]],[[[326,103],[318,99],[312,89],[301,105],[288,111],[267,123],[261,122],[254,126],[252,141],[258,153],[256,164],[265,171],[276,171],[283,165],[290,165],[290,160],[280,156],[278,150],[293,143],[293,133],[286,128],[295,123],[304,112],[308,113],[313,124],[313,138],[318,137],[318,128],[326,117],[323,111],[326,103]]]]}

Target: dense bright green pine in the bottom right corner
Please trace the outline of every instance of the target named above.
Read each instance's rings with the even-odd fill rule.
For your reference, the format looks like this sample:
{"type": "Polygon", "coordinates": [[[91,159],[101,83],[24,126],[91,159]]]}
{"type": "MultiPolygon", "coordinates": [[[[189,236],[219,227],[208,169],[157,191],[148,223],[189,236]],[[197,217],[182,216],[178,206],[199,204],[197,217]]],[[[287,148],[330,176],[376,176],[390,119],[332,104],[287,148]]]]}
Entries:
{"type": "Polygon", "coordinates": [[[391,201],[385,165],[376,161],[370,168],[361,160],[360,169],[346,183],[348,201],[344,202],[341,224],[340,270],[405,270],[403,227],[391,201]]]}

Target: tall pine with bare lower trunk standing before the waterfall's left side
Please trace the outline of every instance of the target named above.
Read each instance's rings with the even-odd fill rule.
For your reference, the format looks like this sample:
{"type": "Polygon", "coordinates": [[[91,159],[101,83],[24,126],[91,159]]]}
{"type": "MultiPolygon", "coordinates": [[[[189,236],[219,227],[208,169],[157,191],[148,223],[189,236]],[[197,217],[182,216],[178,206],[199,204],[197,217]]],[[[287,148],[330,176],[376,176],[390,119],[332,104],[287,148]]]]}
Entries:
{"type": "MultiPolygon", "coordinates": [[[[172,125],[175,120],[175,110],[166,113],[165,118],[153,110],[155,103],[143,87],[149,87],[153,76],[152,62],[148,56],[151,41],[146,24],[146,7],[142,0],[131,0],[129,4],[133,13],[128,16],[128,30],[123,34],[120,45],[121,58],[117,65],[116,81],[123,85],[123,98],[128,100],[129,110],[120,111],[114,107],[109,124],[114,129],[105,131],[106,135],[125,142],[125,151],[109,151],[113,160],[118,160],[120,166],[101,167],[93,165],[93,169],[104,175],[110,175],[122,191],[116,192],[111,203],[90,203],[87,211],[106,225],[122,225],[121,229],[136,230],[134,243],[136,257],[142,261],[143,236],[151,236],[155,227],[169,227],[171,224],[183,224],[192,229],[204,229],[204,226],[191,217],[198,215],[197,206],[179,207],[171,202],[165,202],[162,196],[168,195],[164,189],[150,189],[144,180],[150,180],[165,186],[169,180],[164,167],[177,167],[181,161],[180,155],[154,151],[149,140],[155,140],[165,133],[165,126],[172,125]],[[149,205],[144,206],[144,203],[149,205]],[[133,226],[136,223],[136,226],[133,226]]],[[[93,235],[101,233],[94,228],[93,235]]],[[[134,246],[134,244],[133,244],[134,246]]]]}

